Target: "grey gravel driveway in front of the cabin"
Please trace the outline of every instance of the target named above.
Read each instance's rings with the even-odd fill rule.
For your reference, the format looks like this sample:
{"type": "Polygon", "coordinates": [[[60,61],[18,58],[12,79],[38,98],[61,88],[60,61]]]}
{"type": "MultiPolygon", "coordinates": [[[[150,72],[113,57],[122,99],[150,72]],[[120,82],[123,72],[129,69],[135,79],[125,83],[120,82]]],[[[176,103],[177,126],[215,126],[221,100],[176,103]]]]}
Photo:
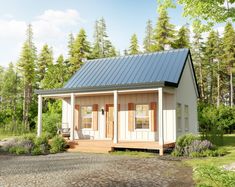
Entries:
{"type": "Polygon", "coordinates": [[[0,187],[193,186],[180,161],[91,153],[0,155],[0,187]]]}

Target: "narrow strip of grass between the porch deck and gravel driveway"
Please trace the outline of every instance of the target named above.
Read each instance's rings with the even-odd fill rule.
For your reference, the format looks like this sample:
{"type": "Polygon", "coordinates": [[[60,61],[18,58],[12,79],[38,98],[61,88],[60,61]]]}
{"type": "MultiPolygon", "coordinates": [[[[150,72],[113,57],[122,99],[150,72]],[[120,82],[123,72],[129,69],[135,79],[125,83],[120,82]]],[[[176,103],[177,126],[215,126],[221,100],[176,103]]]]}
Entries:
{"type": "Polygon", "coordinates": [[[142,151],[114,151],[110,153],[111,155],[120,156],[134,156],[138,158],[152,158],[156,157],[156,153],[142,152],[142,151]]]}

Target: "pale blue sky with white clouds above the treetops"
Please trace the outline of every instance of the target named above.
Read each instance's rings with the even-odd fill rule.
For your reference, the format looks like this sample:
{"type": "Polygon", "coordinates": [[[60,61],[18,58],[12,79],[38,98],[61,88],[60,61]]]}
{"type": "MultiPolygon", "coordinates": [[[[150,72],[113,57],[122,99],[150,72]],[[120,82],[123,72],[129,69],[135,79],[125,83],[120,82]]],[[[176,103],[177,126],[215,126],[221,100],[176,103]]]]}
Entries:
{"type": "MultiPolygon", "coordinates": [[[[148,19],[155,25],[156,0],[0,0],[0,66],[16,63],[25,41],[27,25],[32,24],[34,43],[40,52],[44,44],[53,48],[54,58],[67,56],[69,33],[81,28],[93,41],[95,20],[104,17],[107,34],[121,53],[136,33],[142,45],[148,19]]],[[[169,10],[177,27],[188,22],[182,7],[169,10]]]]}

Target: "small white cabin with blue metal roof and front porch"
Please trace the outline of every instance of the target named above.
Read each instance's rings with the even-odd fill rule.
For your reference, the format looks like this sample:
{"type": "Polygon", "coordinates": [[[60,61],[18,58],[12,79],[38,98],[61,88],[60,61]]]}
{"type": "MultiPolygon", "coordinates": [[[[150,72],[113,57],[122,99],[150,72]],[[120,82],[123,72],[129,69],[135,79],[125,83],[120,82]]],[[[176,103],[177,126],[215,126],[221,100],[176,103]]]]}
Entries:
{"type": "Polygon", "coordinates": [[[198,133],[199,92],[189,49],[89,60],[63,88],[36,93],[38,135],[43,97],[62,99],[62,127],[71,129],[71,140],[137,143],[135,148],[145,142],[162,151],[178,136],[198,133]]]}

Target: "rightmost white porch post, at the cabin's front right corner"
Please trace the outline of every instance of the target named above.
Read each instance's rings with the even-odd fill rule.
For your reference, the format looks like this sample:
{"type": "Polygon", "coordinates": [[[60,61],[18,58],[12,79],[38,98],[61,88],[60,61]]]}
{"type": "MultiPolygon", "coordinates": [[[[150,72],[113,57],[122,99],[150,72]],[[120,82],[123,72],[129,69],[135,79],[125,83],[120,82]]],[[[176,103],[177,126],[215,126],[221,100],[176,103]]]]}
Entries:
{"type": "Polygon", "coordinates": [[[163,146],[164,146],[164,133],[163,133],[163,89],[159,88],[158,91],[158,133],[159,133],[159,145],[160,145],[160,155],[163,155],[163,146]]]}

